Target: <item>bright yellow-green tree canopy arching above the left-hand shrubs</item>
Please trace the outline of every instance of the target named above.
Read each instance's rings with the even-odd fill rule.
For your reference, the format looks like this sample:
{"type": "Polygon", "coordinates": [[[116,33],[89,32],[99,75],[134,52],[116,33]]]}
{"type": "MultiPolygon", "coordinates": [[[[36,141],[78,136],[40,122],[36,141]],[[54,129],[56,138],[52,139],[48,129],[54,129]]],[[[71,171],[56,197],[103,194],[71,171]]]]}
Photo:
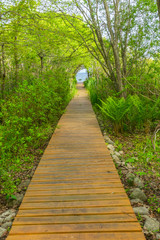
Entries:
{"type": "MultiPolygon", "coordinates": [[[[45,11],[38,1],[10,0],[0,5],[2,98],[23,80],[39,78],[62,66],[72,73],[79,62],[83,64],[80,56],[85,58],[88,53],[59,13],[45,11]]],[[[76,26],[82,28],[82,22],[77,20],[76,26]]]]}

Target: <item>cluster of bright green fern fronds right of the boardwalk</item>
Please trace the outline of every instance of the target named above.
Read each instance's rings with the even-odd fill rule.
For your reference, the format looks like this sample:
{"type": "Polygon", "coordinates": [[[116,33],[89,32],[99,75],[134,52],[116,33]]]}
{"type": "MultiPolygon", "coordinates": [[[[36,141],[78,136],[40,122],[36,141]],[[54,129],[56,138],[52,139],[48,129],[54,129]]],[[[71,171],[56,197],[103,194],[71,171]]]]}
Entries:
{"type": "Polygon", "coordinates": [[[152,101],[137,95],[125,98],[109,97],[99,108],[105,119],[113,123],[115,133],[144,129],[150,131],[151,122],[160,117],[160,98],[152,101]]]}

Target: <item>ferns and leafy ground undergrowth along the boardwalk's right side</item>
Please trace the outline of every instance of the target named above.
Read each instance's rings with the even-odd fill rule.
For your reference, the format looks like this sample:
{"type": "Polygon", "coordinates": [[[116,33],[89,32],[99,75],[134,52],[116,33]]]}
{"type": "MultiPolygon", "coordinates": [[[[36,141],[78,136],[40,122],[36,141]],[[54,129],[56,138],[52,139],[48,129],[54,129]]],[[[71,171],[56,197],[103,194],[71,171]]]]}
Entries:
{"type": "MultiPolygon", "coordinates": [[[[126,98],[107,96],[109,89],[105,95],[102,86],[95,87],[94,78],[85,86],[102,133],[114,142],[116,152],[123,152],[121,162],[115,161],[115,165],[129,198],[135,186],[128,176],[137,177],[143,184],[147,200],[132,206],[149,206],[150,216],[160,221],[160,98],[152,101],[137,94],[126,98]]],[[[137,217],[143,227],[145,219],[137,217]]],[[[145,236],[147,240],[157,239],[152,232],[145,236]]]]}

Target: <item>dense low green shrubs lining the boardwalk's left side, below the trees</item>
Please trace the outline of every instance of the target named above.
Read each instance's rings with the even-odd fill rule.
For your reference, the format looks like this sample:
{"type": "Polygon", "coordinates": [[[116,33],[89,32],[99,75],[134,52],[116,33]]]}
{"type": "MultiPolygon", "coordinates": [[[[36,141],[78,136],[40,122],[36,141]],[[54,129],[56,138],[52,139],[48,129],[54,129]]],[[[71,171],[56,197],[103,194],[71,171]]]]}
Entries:
{"type": "MultiPolygon", "coordinates": [[[[46,78],[19,84],[1,104],[1,192],[11,195],[17,174],[32,168],[35,151],[46,143],[70,100],[69,77],[63,69],[46,78]]],[[[13,194],[12,194],[13,195],[13,194]]]]}

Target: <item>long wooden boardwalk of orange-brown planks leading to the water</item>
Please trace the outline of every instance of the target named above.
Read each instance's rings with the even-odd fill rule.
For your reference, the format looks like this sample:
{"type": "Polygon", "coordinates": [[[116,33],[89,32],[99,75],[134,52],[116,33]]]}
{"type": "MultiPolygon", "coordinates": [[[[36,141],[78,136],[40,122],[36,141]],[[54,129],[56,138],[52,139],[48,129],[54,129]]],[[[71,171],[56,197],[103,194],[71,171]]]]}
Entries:
{"type": "Polygon", "coordinates": [[[144,240],[86,90],[78,86],[7,240],[144,240]]]}

